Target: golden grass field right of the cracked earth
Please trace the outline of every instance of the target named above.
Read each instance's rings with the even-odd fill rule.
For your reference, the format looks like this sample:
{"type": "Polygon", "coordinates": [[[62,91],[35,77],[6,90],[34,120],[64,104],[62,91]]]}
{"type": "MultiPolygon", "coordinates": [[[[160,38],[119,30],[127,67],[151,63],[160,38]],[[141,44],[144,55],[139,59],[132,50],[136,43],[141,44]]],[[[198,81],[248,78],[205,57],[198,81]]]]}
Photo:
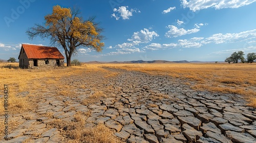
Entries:
{"type": "Polygon", "coordinates": [[[182,84],[197,90],[242,94],[250,102],[249,106],[256,107],[254,76],[256,63],[103,64],[102,66],[179,78],[182,79],[182,84]]]}

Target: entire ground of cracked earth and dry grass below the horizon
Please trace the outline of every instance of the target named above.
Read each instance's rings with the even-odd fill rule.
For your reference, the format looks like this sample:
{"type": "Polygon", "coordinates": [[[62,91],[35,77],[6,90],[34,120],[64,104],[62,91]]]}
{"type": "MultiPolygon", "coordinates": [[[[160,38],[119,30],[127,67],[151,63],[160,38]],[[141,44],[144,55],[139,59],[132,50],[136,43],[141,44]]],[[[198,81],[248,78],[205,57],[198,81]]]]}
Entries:
{"type": "Polygon", "coordinates": [[[256,142],[256,64],[17,66],[0,142],[256,142]]]}

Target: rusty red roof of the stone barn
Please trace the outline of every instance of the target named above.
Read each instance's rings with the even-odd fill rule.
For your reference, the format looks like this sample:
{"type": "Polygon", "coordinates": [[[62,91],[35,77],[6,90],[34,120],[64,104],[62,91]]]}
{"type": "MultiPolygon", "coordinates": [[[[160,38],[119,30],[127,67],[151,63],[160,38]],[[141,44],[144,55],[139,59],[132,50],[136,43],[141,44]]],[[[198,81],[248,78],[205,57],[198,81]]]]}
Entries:
{"type": "Polygon", "coordinates": [[[22,49],[29,59],[65,59],[57,47],[22,44],[22,49]]]}

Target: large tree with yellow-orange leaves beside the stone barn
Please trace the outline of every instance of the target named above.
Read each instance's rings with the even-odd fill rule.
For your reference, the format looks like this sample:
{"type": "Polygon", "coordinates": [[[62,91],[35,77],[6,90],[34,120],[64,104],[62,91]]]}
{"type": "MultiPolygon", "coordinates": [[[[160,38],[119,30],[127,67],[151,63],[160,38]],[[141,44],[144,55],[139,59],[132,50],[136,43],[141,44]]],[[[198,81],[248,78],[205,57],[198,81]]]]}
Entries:
{"type": "Polygon", "coordinates": [[[53,45],[60,45],[65,50],[67,66],[71,65],[71,57],[80,47],[102,51],[104,36],[102,28],[94,22],[94,18],[83,20],[78,10],[54,6],[52,14],[46,15],[45,25],[36,24],[29,28],[27,34],[30,39],[37,36],[49,38],[53,45]]]}

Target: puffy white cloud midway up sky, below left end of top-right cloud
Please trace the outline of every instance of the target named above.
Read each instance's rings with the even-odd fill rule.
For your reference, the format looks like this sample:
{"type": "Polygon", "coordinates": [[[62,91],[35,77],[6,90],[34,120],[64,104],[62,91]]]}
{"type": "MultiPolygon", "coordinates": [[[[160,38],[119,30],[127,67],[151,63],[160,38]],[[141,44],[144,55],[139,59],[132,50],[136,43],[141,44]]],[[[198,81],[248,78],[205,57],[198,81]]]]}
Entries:
{"type": "Polygon", "coordinates": [[[182,35],[197,33],[198,31],[200,31],[200,29],[197,29],[197,28],[185,30],[183,28],[178,29],[177,27],[170,26],[170,25],[166,28],[170,29],[168,32],[165,33],[165,37],[168,37],[168,38],[179,37],[182,35]]]}

